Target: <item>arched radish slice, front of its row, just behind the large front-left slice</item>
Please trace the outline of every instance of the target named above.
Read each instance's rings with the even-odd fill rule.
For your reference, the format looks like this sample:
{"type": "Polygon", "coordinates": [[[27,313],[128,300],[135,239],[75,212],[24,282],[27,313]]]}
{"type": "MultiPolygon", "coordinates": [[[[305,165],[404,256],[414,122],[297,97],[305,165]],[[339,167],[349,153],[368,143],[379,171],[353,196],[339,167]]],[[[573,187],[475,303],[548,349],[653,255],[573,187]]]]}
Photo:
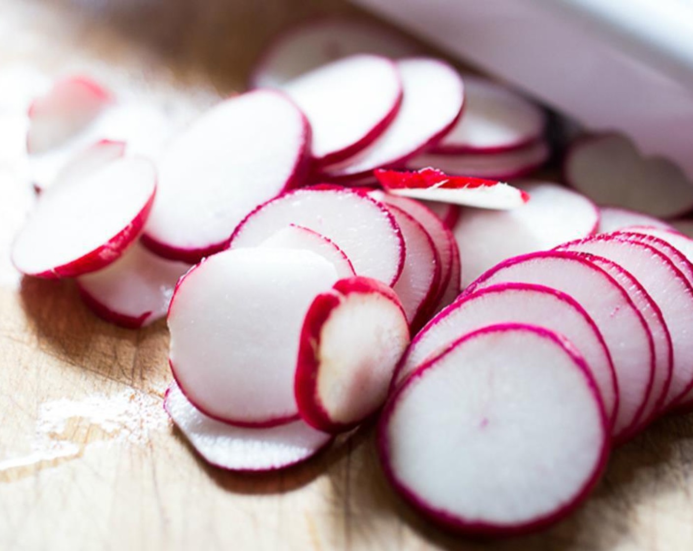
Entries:
{"type": "Polygon", "coordinates": [[[394,285],[405,245],[394,216],[367,195],[339,186],[285,193],[250,213],[231,236],[231,248],[256,247],[295,224],[317,231],[347,255],[357,275],[394,285]]]}

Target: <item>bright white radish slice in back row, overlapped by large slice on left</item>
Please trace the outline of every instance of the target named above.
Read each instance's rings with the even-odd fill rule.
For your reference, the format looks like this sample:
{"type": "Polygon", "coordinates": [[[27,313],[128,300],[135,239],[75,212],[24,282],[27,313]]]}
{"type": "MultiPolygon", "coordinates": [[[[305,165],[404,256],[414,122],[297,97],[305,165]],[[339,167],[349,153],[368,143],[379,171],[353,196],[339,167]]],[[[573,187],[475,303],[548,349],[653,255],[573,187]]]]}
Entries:
{"type": "Polygon", "coordinates": [[[376,55],[354,55],[319,67],[282,88],[308,117],[313,158],[347,159],[383,134],[402,103],[396,64],[376,55]]]}

